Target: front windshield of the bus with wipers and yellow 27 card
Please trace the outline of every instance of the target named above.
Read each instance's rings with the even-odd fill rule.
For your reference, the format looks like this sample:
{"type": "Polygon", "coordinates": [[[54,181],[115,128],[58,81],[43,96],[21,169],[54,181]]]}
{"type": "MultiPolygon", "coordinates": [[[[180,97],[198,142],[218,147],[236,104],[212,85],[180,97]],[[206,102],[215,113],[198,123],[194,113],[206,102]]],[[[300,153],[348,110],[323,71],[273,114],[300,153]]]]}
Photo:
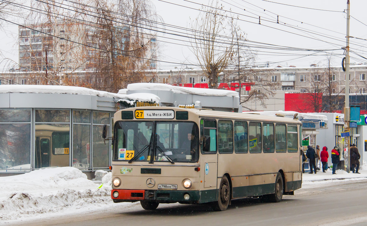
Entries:
{"type": "Polygon", "coordinates": [[[169,161],[168,157],[174,162],[197,162],[198,134],[192,122],[121,121],[115,127],[113,161],[128,161],[138,155],[134,161],[150,161],[154,156],[153,161],[169,161]]]}

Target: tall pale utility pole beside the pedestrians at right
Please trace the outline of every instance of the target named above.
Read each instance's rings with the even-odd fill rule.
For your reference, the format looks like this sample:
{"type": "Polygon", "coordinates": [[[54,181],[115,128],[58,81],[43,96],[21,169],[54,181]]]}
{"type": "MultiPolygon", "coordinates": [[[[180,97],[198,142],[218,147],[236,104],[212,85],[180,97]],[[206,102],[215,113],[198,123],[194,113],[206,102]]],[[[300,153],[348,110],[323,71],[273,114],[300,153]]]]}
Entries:
{"type": "MultiPolygon", "coordinates": [[[[349,108],[349,21],[350,21],[350,4],[349,0],[346,2],[346,56],[345,56],[345,107],[344,107],[344,132],[350,132],[350,108],[349,108]]],[[[350,134],[349,134],[350,135],[350,134]]],[[[344,169],[346,172],[350,172],[349,163],[349,144],[350,136],[344,138],[344,169]]]]}

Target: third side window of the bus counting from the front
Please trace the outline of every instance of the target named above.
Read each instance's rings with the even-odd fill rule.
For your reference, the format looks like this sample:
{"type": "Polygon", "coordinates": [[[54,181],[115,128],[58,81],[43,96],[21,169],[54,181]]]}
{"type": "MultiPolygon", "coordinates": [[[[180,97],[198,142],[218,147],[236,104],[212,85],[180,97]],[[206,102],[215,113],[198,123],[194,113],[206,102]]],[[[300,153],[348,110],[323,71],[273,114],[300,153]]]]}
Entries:
{"type": "Polygon", "coordinates": [[[247,122],[235,121],[235,153],[248,152],[247,122]]]}

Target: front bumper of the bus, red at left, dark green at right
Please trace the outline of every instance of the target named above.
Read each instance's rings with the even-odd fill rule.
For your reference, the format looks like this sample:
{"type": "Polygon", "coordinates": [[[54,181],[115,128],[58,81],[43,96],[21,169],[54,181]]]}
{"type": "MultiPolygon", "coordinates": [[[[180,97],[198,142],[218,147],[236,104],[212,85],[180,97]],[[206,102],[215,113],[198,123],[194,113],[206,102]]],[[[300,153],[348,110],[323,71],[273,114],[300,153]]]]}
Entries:
{"type": "Polygon", "coordinates": [[[192,203],[199,201],[199,191],[175,191],[175,190],[128,190],[112,189],[111,198],[117,202],[135,202],[139,200],[150,200],[161,203],[192,203]],[[117,192],[118,196],[117,196],[117,192]],[[114,196],[115,193],[115,197],[114,196]]]}

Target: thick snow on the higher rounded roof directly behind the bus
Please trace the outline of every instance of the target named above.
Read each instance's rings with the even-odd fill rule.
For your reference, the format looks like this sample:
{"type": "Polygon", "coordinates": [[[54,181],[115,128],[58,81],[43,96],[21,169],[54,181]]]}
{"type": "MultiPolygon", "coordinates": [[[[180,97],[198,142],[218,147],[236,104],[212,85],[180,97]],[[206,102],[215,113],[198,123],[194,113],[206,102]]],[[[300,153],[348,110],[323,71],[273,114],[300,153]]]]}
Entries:
{"type": "MultiPolygon", "coordinates": [[[[239,97],[238,92],[231,90],[217,90],[217,89],[206,89],[206,88],[191,88],[174,86],[163,83],[132,83],[127,85],[127,90],[167,90],[173,91],[179,94],[197,94],[203,96],[233,96],[239,97]]],[[[119,93],[125,92],[120,90],[119,93]]]]}

